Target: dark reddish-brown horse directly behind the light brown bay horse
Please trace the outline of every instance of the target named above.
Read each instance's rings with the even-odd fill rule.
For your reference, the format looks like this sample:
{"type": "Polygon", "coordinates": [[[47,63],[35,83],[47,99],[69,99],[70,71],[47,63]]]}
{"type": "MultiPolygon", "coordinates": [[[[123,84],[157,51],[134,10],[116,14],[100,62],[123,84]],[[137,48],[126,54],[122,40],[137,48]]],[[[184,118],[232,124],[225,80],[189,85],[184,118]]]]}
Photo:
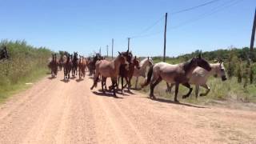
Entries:
{"type": "MultiPolygon", "coordinates": [[[[128,56],[129,58],[129,56],[128,56]]],[[[128,91],[130,91],[130,86],[131,86],[131,79],[133,78],[134,75],[134,69],[137,68],[138,70],[140,69],[139,66],[139,60],[138,58],[136,58],[136,56],[134,58],[132,58],[133,60],[129,63],[128,65],[128,69],[126,69],[126,65],[121,65],[120,66],[120,73],[119,73],[119,78],[121,78],[121,83],[122,83],[122,89],[121,92],[123,91],[123,89],[128,86],[128,91]],[[126,79],[126,85],[123,86],[123,78],[126,79]]],[[[119,78],[118,78],[118,82],[119,82],[119,78]]]]}

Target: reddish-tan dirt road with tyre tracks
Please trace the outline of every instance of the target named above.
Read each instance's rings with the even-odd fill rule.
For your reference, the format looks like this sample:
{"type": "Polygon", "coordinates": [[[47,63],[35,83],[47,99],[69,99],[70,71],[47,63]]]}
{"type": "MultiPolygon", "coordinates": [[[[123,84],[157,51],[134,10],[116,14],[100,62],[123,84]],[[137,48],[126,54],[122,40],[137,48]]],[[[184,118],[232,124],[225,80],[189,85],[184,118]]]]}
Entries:
{"type": "Polygon", "coordinates": [[[113,98],[92,79],[44,78],[0,106],[0,143],[256,143],[256,112],[113,98]]]}

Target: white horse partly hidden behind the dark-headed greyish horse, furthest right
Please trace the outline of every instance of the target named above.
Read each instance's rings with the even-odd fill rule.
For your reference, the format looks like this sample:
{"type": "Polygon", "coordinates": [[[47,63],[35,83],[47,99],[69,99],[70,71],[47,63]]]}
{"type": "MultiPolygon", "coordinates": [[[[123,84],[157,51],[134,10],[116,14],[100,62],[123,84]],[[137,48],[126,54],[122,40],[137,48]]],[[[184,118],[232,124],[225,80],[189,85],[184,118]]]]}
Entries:
{"type": "MultiPolygon", "coordinates": [[[[223,65],[223,62],[220,61],[218,63],[210,63],[211,70],[207,71],[205,69],[202,69],[201,67],[197,67],[192,72],[191,78],[189,83],[192,85],[195,85],[195,97],[198,98],[199,94],[199,86],[202,86],[206,89],[206,93],[199,94],[201,97],[206,96],[210,92],[210,87],[207,86],[206,82],[210,76],[222,78],[222,81],[226,81],[226,71],[225,67],[223,65]]],[[[171,88],[174,86],[174,84],[171,84],[171,86],[168,88],[171,90],[171,88]]]]}

